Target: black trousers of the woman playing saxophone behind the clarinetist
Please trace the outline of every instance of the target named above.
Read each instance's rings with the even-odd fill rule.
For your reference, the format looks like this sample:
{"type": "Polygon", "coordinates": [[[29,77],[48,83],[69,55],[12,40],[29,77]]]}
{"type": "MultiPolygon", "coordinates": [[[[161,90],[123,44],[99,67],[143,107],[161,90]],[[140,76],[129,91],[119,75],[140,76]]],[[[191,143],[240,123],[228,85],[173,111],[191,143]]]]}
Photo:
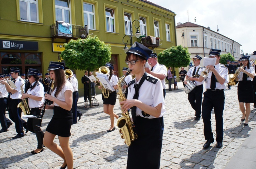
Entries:
{"type": "MultiPolygon", "coordinates": [[[[39,108],[33,108],[30,111],[31,115],[39,116],[41,112],[41,109],[39,108]]],[[[41,149],[43,148],[43,138],[44,138],[44,132],[41,130],[40,126],[42,123],[41,119],[38,118],[28,118],[27,122],[27,130],[31,131],[32,133],[35,133],[35,136],[37,137],[37,148],[41,149]]]]}

